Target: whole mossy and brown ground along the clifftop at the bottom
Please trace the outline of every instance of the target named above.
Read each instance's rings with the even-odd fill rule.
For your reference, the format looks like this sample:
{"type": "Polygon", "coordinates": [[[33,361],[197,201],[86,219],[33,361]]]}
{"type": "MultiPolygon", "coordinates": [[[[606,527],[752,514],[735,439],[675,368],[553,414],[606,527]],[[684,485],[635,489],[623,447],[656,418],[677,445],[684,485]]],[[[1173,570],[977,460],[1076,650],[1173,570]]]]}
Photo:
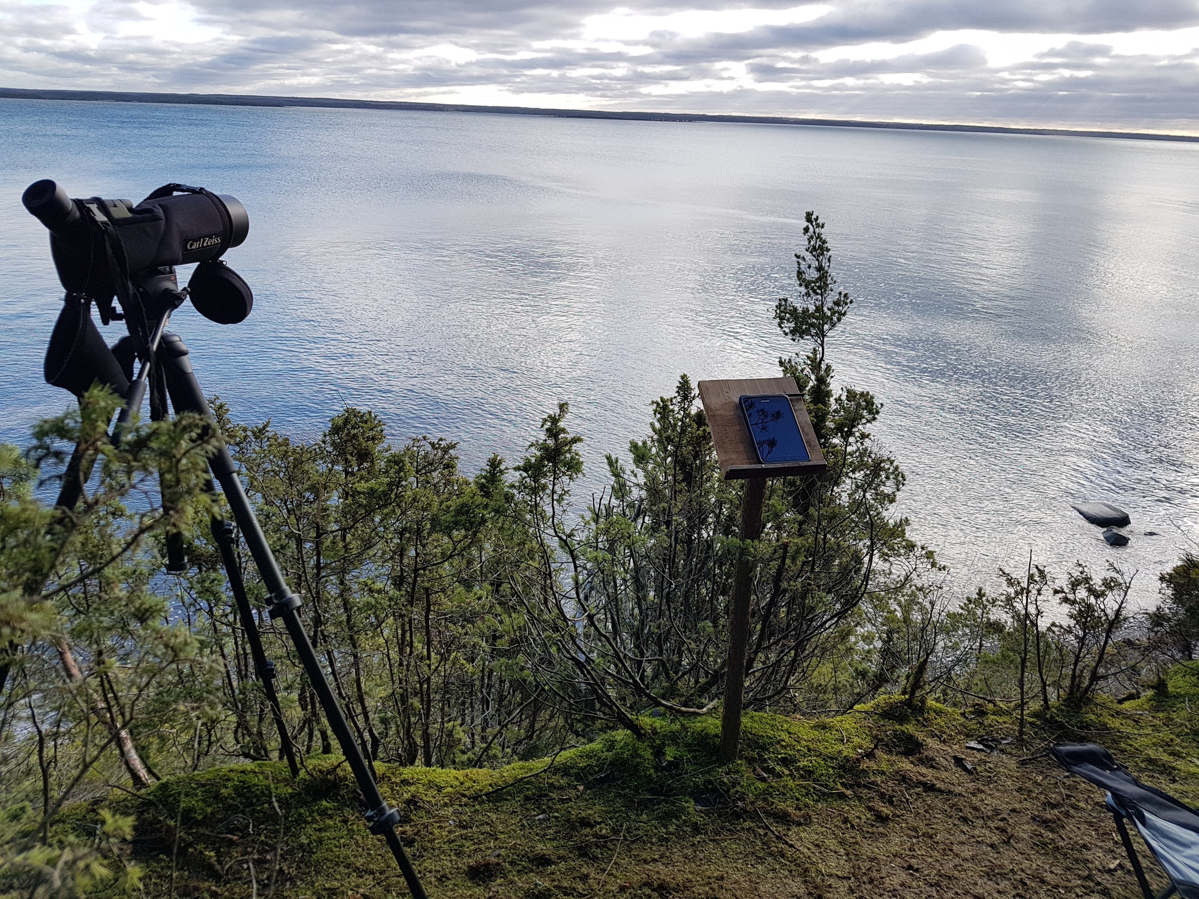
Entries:
{"type": "MultiPolygon", "coordinates": [[[[717,719],[650,719],[644,740],[611,732],[553,764],[378,771],[430,897],[1135,897],[1102,792],[1044,750],[1098,742],[1199,801],[1199,678],[1179,668],[1167,686],[1030,720],[996,753],[965,743],[1014,737],[1011,710],[884,699],[835,718],[748,714],[731,766],[717,719]]],[[[296,782],[237,765],[109,804],[137,815],[146,895],[405,895],[354,797],[345,765],[317,756],[296,782]]]]}

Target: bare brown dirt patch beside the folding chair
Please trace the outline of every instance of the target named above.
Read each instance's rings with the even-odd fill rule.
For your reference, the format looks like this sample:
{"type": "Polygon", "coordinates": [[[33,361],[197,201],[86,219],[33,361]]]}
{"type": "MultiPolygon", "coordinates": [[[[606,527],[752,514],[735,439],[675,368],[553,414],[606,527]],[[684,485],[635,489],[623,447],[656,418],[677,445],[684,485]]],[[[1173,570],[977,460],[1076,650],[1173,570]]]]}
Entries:
{"type": "Polygon", "coordinates": [[[824,859],[803,879],[807,894],[1140,895],[1098,790],[1048,760],[1010,755],[978,755],[968,774],[946,764],[952,752],[929,747],[935,768],[900,768],[873,790],[886,820],[826,815],[813,835],[782,825],[783,837],[807,840],[824,859]]]}

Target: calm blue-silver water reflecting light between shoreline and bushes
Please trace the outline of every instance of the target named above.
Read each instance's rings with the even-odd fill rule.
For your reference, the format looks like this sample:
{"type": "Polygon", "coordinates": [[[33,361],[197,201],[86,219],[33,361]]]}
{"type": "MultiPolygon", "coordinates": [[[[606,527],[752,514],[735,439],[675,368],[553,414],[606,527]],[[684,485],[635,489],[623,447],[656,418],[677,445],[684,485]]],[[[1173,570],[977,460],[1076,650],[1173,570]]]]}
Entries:
{"type": "MultiPolygon", "coordinates": [[[[946,590],[1076,561],[1158,575],[1199,550],[1199,144],[523,115],[0,99],[0,440],[71,397],[42,380],[61,304],[20,205],[52,177],[139,200],[237,197],[252,315],[171,327],[207,393],[301,439],[345,406],[391,439],[518,460],[570,404],[584,502],[650,404],[772,376],[796,349],[803,216],[854,297],[829,360],[882,403],[915,539],[946,590]],[[1132,517],[1113,548],[1071,508],[1132,517]]],[[[185,272],[186,274],[186,272],[185,272]]],[[[110,339],[119,337],[114,325],[110,339]]]]}

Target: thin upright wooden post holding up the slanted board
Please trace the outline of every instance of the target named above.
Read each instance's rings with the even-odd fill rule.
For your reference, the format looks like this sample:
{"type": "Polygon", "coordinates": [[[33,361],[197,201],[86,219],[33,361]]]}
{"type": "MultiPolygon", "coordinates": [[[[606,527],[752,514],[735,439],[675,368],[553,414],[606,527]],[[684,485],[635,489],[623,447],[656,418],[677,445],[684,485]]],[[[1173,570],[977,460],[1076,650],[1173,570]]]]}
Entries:
{"type": "MultiPolygon", "coordinates": [[[[741,541],[755,542],[761,536],[761,506],[766,496],[766,478],[746,479],[741,496],[741,541]]],[[[721,758],[737,758],[741,744],[741,705],[745,700],[746,654],[749,651],[749,607],[755,553],[742,545],[737,555],[733,599],[729,604],[729,656],[724,665],[724,717],[721,720],[721,758]]]]}

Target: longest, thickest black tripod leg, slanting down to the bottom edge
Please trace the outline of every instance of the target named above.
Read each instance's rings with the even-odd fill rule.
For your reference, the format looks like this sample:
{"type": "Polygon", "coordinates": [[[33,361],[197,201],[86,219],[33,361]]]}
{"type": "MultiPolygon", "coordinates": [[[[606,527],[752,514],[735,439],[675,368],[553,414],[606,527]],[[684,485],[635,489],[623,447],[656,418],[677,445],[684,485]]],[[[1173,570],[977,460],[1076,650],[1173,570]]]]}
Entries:
{"type": "MultiPolygon", "coordinates": [[[[211,418],[212,414],[209,411],[209,404],[204,399],[204,392],[200,390],[199,381],[195,380],[192,364],[187,358],[187,346],[177,334],[163,334],[162,344],[159,345],[159,358],[163,362],[163,369],[167,374],[167,390],[170,392],[170,402],[175,406],[175,411],[198,412],[211,418]]],[[[366,817],[370,823],[370,832],[381,834],[387,840],[387,845],[396,857],[396,862],[399,864],[399,869],[403,871],[404,880],[408,882],[408,888],[412,891],[412,895],[416,899],[427,899],[428,894],[424,892],[424,887],[421,886],[421,880],[416,876],[416,869],[412,868],[412,863],[409,861],[408,853],[399,841],[399,835],[396,833],[399,811],[384,802],[382,794],[379,792],[379,785],[374,779],[374,772],[362,756],[362,749],[354,738],[354,734],[350,732],[345,713],[342,711],[342,706],[338,704],[332,687],[329,686],[325,670],[320,666],[317,653],[312,648],[312,642],[308,640],[308,634],[303,629],[303,622],[300,620],[300,597],[294,595],[288,589],[287,581],[283,580],[283,573],[279,571],[279,566],[275,561],[275,555],[266,543],[263,529],[258,526],[258,519],[254,518],[254,509],[251,507],[249,499],[242,489],[241,481],[237,479],[236,467],[224,444],[221,445],[217,453],[209,460],[209,466],[212,469],[212,473],[217,481],[221,482],[221,488],[224,490],[229,508],[233,509],[233,517],[241,527],[246,545],[249,548],[251,555],[254,557],[254,565],[258,567],[263,583],[270,593],[272,602],[270,609],[271,619],[283,620],[283,625],[287,627],[288,634],[295,644],[296,654],[300,656],[300,662],[308,675],[308,681],[317,692],[317,698],[325,711],[329,726],[332,728],[333,735],[342,747],[342,754],[354,772],[354,778],[357,780],[359,790],[361,790],[362,798],[366,801],[368,809],[366,817]]]]}

